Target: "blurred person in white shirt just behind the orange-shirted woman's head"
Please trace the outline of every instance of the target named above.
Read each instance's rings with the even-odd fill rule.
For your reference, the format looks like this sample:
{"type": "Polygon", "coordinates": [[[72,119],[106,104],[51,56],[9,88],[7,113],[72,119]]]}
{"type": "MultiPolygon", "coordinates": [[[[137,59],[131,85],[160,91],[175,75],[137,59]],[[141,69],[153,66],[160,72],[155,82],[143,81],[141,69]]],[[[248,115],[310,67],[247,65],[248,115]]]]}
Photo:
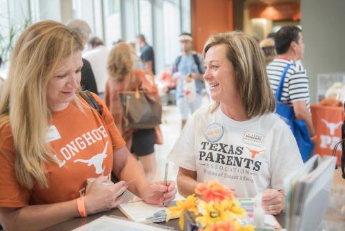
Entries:
{"type": "Polygon", "coordinates": [[[95,74],[99,97],[104,99],[106,81],[108,80],[107,59],[108,49],[99,37],[92,37],[88,41],[88,51],[83,57],[90,62],[92,71],[95,74]]]}

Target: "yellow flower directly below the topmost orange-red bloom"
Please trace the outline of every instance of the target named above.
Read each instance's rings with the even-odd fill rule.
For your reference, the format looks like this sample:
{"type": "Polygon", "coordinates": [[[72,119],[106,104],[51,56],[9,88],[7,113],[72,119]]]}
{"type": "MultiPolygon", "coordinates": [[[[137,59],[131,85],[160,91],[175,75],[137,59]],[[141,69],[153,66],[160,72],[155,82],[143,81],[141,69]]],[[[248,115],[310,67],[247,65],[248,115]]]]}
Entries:
{"type": "Polygon", "coordinates": [[[199,201],[199,205],[202,210],[202,216],[198,216],[196,221],[199,222],[202,227],[207,227],[209,224],[215,224],[218,221],[227,221],[230,219],[231,214],[226,210],[227,202],[211,201],[206,203],[205,201],[199,201]]]}

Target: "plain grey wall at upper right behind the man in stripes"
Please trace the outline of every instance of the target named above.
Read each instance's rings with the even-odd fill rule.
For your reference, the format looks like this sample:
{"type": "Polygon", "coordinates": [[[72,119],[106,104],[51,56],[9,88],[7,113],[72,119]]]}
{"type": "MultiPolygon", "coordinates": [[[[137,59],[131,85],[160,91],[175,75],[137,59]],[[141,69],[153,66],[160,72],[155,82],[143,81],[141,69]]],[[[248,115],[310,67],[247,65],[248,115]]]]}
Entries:
{"type": "Polygon", "coordinates": [[[302,63],[309,73],[311,100],[315,102],[317,73],[345,73],[345,1],[302,0],[304,36],[302,63]]]}

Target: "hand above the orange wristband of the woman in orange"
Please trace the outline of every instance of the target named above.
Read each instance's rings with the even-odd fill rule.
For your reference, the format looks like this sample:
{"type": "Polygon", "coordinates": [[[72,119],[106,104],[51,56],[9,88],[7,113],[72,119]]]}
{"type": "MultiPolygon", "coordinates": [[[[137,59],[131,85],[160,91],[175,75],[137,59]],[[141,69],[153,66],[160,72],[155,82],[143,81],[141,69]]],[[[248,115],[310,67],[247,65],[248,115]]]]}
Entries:
{"type": "Polygon", "coordinates": [[[123,202],[123,198],[117,199],[117,197],[127,190],[126,182],[119,181],[115,185],[102,184],[107,181],[109,180],[105,176],[99,176],[90,184],[90,187],[87,187],[84,196],[86,214],[110,210],[123,202]]]}

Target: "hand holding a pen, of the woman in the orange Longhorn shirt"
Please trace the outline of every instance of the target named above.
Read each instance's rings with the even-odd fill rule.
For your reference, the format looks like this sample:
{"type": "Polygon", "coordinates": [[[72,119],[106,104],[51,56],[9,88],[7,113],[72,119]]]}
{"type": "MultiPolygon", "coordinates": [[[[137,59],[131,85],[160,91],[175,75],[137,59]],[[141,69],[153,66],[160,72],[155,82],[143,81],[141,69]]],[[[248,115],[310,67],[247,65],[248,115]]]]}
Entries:
{"type": "Polygon", "coordinates": [[[141,194],[141,198],[149,204],[168,205],[177,193],[174,181],[168,181],[164,185],[163,181],[149,183],[141,194]],[[164,203],[164,204],[163,204],[164,203]]]}

